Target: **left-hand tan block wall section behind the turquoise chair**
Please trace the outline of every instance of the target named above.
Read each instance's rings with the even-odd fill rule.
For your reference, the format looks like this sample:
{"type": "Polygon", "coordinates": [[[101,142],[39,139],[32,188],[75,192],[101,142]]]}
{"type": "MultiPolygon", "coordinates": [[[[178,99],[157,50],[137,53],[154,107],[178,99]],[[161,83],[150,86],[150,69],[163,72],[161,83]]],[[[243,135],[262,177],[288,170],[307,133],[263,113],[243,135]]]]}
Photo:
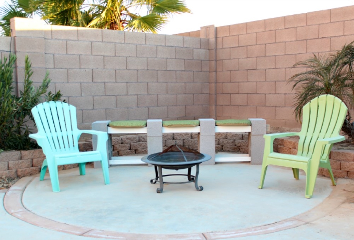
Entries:
{"type": "Polygon", "coordinates": [[[207,39],[26,18],[11,19],[11,27],[20,81],[29,55],[33,80],[42,81],[49,71],[51,90],[76,106],[80,128],[98,120],[209,117],[207,39]]]}

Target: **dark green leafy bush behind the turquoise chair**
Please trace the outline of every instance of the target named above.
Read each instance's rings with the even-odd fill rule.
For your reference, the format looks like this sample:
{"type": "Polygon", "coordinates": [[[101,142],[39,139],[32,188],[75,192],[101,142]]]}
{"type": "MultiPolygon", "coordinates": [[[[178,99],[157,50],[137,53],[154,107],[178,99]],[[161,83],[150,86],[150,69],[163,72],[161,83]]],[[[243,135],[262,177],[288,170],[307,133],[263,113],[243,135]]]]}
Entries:
{"type": "Polygon", "coordinates": [[[0,59],[0,149],[28,150],[38,148],[28,135],[32,133],[27,123],[33,122],[31,109],[41,101],[59,101],[62,94],[48,92],[50,84],[47,72],[39,87],[30,80],[33,71],[28,56],[25,57],[23,91],[16,96],[13,82],[13,65],[16,56],[0,59]]]}

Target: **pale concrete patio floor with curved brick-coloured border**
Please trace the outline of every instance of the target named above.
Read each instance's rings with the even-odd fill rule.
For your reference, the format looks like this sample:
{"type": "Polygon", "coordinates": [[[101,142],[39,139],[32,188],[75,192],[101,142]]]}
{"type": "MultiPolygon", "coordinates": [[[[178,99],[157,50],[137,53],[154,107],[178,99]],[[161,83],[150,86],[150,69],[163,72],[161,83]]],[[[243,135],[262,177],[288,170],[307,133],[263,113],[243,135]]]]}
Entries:
{"type": "Polygon", "coordinates": [[[201,165],[203,191],[194,183],[165,184],[161,194],[146,165],[110,167],[109,185],[98,168],[88,166],[85,176],[78,168],[60,171],[60,193],[52,192],[49,175],[25,177],[0,192],[1,239],[354,238],[353,180],[333,187],[319,177],[306,199],[304,175],[295,180],[291,169],[269,166],[258,189],[260,171],[248,163],[201,165]]]}

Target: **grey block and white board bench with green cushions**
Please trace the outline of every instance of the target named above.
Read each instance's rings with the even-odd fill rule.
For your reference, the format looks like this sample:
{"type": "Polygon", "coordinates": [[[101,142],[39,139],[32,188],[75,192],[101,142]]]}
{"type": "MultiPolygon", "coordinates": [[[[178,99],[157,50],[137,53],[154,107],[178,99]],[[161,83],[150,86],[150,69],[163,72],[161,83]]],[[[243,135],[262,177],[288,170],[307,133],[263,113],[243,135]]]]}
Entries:
{"type": "MultiPolygon", "coordinates": [[[[96,121],[92,129],[107,132],[107,152],[109,165],[142,164],[143,155],[112,156],[112,134],[147,133],[148,155],[162,152],[162,133],[198,133],[198,151],[209,154],[212,159],[205,164],[213,165],[215,162],[250,161],[251,164],[262,164],[264,138],[266,125],[264,119],[240,120],[179,120],[162,121],[149,119],[147,121],[96,121]],[[249,154],[215,154],[216,132],[248,132],[249,154]]],[[[93,148],[97,146],[97,139],[92,139],[93,148]]],[[[101,167],[99,162],[94,167],[101,167]]]]}

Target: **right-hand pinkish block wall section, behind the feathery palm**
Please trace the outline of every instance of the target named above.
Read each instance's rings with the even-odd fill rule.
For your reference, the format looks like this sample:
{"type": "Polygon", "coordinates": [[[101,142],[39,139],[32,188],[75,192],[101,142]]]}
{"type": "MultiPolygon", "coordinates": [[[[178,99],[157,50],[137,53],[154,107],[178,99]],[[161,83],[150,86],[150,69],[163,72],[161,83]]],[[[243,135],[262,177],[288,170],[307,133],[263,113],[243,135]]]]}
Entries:
{"type": "Polygon", "coordinates": [[[210,116],[263,118],[271,126],[299,127],[292,108],[296,91],[287,79],[306,69],[291,67],[313,53],[329,54],[352,42],[353,12],[354,6],[348,6],[207,27],[210,60],[215,61],[210,63],[210,116]]]}

